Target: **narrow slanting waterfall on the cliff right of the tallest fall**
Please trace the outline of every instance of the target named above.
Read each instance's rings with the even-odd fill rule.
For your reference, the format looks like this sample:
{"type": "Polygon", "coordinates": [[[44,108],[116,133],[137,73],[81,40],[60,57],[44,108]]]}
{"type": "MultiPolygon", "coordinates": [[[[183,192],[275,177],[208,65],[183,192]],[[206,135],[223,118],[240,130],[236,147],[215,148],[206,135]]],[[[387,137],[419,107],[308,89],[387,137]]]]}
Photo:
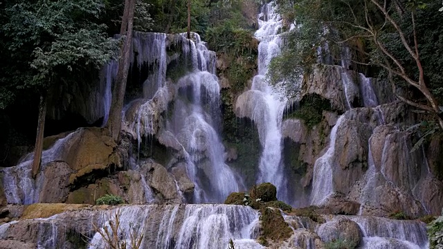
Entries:
{"type": "Polygon", "coordinates": [[[334,164],[335,156],[335,141],[337,136],[338,127],[345,120],[345,116],[342,115],[338,118],[336,124],[332,128],[329,147],[323,156],[320,156],[314,163],[314,176],[312,179],[312,192],[311,192],[311,205],[322,204],[329,194],[334,192],[334,186],[332,183],[332,168],[334,164]]]}

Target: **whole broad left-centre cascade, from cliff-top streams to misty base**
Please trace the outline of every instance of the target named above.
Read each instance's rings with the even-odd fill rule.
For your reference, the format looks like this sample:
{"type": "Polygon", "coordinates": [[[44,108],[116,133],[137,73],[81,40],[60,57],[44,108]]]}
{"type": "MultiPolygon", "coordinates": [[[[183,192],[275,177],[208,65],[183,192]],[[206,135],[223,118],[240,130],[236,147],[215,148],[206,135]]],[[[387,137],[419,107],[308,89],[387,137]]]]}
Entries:
{"type": "Polygon", "coordinates": [[[148,76],[143,85],[144,91],[155,89],[155,93],[144,93],[143,100],[134,100],[125,107],[128,130],[138,140],[138,151],[142,140],[150,140],[159,133],[172,136],[179,150],[183,150],[187,175],[195,183],[193,201],[222,202],[230,192],[244,187],[242,179],[224,163],[224,146],[218,134],[221,111],[219,83],[214,74],[215,52],[208,50],[196,33],[192,33],[193,39],[187,39],[184,33],[169,37],[172,39],[169,42],[181,44],[180,56],[184,57],[185,64],[180,66],[188,68],[190,73],[175,84],[165,84],[167,37],[164,34],[147,37],[151,38],[138,37],[134,50],[141,53],[136,59],[139,65],[144,62],[157,65],[152,73],[154,76],[148,76]],[[148,49],[147,41],[154,42],[154,48],[148,49]],[[173,102],[173,109],[168,110],[170,102],[173,102]],[[160,115],[167,110],[163,125],[160,115]]]}

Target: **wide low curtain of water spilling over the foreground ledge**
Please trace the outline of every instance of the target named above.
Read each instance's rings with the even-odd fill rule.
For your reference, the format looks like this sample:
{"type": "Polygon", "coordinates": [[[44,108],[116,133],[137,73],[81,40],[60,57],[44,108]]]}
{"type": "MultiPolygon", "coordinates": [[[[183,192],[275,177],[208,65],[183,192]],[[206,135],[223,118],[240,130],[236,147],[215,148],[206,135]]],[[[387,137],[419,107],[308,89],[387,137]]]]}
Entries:
{"type": "MultiPolygon", "coordinates": [[[[123,239],[129,231],[143,234],[141,248],[227,248],[233,239],[236,248],[262,248],[253,241],[258,213],[242,205],[147,205],[119,209],[123,239]]],[[[111,211],[115,212],[115,211],[111,211]]],[[[107,214],[111,214],[107,212],[107,214]]],[[[102,215],[102,226],[109,225],[102,215]]],[[[111,220],[114,218],[111,218],[111,220]]],[[[105,245],[100,234],[90,249],[105,245]]]]}

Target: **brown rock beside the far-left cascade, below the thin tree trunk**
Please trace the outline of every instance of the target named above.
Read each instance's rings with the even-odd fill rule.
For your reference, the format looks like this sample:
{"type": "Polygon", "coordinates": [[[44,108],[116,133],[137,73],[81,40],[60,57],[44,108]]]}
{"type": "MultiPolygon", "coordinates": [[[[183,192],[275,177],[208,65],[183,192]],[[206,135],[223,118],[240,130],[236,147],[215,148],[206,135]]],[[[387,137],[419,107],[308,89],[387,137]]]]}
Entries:
{"type": "Polygon", "coordinates": [[[39,196],[42,203],[63,203],[69,192],[69,176],[73,170],[62,161],[53,161],[44,169],[44,183],[39,196]]]}

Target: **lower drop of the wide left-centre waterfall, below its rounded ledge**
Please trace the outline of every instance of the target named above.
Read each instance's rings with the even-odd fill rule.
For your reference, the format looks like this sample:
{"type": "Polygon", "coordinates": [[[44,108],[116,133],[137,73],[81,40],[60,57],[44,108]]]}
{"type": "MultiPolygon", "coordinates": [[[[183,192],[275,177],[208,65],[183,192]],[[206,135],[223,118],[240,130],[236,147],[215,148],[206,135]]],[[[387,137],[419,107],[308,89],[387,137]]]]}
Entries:
{"type": "Polygon", "coordinates": [[[188,176],[194,178],[198,176],[198,169],[202,169],[208,179],[206,185],[209,185],[204,187],[204,181],[192,179],[196,185],[204,187],[200,194],[196,192],[195,201],[220,203],[228,194],[238,192],[244,186],[242,179],[224,163],[224,146],[217,133],[217,113],[220,113],[217,77],[205,71],[196,71],[177,82],[177,92],[179,97],[188,100],[175,100],[174,115],[168,129],[190,155],[188,176]],[[189,170],[190,167],[196,168],[189,170]]]}

